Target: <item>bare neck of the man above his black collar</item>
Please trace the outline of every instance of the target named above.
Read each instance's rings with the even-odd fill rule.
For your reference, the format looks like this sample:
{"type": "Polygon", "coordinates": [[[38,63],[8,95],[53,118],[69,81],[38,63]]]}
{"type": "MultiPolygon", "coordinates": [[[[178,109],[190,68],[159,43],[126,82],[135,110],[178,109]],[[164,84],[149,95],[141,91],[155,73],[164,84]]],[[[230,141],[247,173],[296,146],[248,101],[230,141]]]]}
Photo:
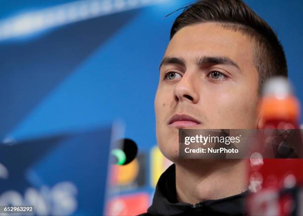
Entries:
{"type": "Polygon", "coordinates": [[[246,166],[240,159],[184,159],[176,163],[177,199],[196,204],[240,194],[248,188],[246,166]]]}

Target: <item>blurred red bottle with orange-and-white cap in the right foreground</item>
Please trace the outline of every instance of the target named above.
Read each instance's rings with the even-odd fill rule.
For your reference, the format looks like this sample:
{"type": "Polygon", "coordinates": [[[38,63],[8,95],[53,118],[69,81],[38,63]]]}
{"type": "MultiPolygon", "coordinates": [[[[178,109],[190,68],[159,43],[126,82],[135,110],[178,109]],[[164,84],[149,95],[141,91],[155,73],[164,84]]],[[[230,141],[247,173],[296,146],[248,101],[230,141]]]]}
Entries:
{"type": "MultiPolygon", "coordinates": [[[[300,104],[293,95],[292,87],[285,78],[273,78],[265,83],[260,116],[260,129],[268,130],[266,137],[257,137],[265,146],[271,138],[272,129],[281,129],[285,138],[294,130],[302,143],[299,118],[300,104]]],[[[286,139],[285,139],[286,140],[286,139]]],[[[281,148],[284,142],[280,143],[281,148]]],[[[287,158],[287,157],[285,157],[287,158]]],[[[303,159],[264,159],[254,152],[249,161],[249,189],[252,192],[247,202],[248,214],[252,216],[297,216],[303,215],[303,159]]]]}

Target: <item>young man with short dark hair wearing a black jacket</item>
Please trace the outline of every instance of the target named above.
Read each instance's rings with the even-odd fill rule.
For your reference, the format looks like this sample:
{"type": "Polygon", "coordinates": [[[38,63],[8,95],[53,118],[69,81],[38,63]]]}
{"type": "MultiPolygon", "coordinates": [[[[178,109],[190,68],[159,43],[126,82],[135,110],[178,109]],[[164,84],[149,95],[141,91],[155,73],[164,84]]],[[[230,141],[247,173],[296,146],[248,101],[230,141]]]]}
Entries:
{"type": "Polygon", "coordinates": [[[287,76],[269,25],[242,0],[201,0],[172,28],[155,97],[156,135],[174,162],[146,215],[244,215],[245,160],[180,159],[178,129],[256,129],[260,87],[287,76]]]}

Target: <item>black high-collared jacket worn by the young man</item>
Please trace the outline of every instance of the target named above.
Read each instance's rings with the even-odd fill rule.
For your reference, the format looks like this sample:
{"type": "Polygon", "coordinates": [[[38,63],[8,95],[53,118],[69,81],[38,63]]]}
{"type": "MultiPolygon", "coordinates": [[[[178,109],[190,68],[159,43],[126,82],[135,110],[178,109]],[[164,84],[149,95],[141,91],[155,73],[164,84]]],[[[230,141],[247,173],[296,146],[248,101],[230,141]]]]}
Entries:
{"type": "Polygon", "coordinates": [[[141,216],[181,216],[181,215],[245,215],[244,201],[248,191],[218,199],[205,200],[196,205],[179,203],[176,196],[176,170],[171,165],[159,178],[152,199],[152,206],[141,216]]]}

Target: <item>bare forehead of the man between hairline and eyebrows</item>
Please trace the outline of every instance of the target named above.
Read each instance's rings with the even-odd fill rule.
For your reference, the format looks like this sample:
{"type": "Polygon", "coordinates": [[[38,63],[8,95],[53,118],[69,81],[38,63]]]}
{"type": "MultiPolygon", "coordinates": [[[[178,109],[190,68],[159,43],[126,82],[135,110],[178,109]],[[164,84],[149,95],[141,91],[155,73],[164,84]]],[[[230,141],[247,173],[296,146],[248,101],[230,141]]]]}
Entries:
{"type": "Polygon", "coordinates": [[[186,61],[199,56],[226,56],[239,66],[253,64],[253,41],[240,31],[223,28],[219,23],[200,23],[180,29],[164,54],[186,61]]]}

